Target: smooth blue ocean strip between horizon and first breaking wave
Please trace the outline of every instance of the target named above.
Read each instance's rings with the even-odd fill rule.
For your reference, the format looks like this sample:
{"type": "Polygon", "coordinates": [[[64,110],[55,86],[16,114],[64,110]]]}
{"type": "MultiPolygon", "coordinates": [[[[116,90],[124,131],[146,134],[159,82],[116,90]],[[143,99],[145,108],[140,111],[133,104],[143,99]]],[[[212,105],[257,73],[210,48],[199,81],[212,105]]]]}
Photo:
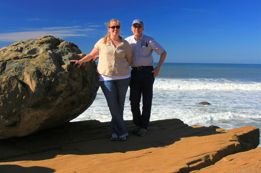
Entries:
{"type": "MultiPolygon", "coordinates": [[[[155,66],[157,64],[154,64],[155,66]]],[[[261,82],[260,64],[164,63],[159,77],[261,82]]]]}

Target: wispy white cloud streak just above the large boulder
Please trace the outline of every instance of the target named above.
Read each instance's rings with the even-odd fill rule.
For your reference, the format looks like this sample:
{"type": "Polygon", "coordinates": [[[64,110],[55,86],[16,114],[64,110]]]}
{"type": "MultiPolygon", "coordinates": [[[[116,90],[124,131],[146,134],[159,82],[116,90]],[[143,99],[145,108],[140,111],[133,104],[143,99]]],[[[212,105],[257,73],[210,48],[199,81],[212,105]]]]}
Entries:
{"type": "Polygon", "coordinates": [[[88,37],[88,34],[90,35],[90,32],[94,32],[94,30],[94,28],[84,28],[81,26],[24,28],[23,31],[1,33],[0,41],[37,39],[44,35],[51,35],[61,39],[65,37],[88,37]]]}

